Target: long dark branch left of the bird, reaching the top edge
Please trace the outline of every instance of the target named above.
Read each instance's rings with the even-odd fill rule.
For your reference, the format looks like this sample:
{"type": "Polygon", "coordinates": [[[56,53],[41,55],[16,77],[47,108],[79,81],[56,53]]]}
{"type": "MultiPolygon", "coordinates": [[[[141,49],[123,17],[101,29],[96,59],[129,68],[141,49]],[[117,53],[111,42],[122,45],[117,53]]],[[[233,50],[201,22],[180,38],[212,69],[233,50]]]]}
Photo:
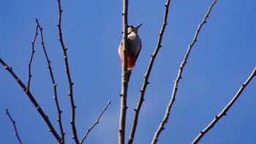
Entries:
{"type": "Polygon", "coordinates": [[[71,113],[71,121],[70,121],[70,124],[72,126],[72,132],[73,132],[73,136],[72,138],[75,140],[75,143],[79,143],[79,140],[78,140],[78,135],[77,135],[77,130],[76,130],[76,127],[75,127],[75,102],[74,102],[74,99],[73,99],[73,84],[72,83],[72,80],[71,80],[71,75],[70,75],[70,72],[69,72],[69,63],[67,61],[67,48],[64,46],[64,41],[63,41],[63,38],[62,38],[62,31],[61,31],[61,14],[63,12],[63,10],[61,10],[61,1],[58,0],[58,6],[59,6],[59,22],[57,24],[58,26],[58,29],[59,29],[59,42],[61,43],[61,48],[63,50],[63,54],[64,54],[64,62],[65,62],[65,71],[67,73],[67,80],[69,81],[69,98],[70,98],[70,103],[71,103],[71,109],[72,109],[72,113],[71,113]]]}

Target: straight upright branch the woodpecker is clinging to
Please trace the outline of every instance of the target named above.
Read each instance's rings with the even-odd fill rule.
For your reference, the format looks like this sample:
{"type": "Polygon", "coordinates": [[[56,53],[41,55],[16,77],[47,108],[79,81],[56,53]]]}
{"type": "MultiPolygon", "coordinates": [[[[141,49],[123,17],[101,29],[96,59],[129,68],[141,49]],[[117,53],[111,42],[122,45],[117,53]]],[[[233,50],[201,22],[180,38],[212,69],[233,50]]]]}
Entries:
{"type": "Polygon", "coordinates": [[[119,119],[119,131],[118,131],[118,144],[124,144],[125,135],[125,121],[127,115],[127,11],[128,0],[123,1],[123,50],[124,50],[124,65],[122,67],[122,79],[121,79],[121,107],[120,107],[120,119],[119,119]]]}

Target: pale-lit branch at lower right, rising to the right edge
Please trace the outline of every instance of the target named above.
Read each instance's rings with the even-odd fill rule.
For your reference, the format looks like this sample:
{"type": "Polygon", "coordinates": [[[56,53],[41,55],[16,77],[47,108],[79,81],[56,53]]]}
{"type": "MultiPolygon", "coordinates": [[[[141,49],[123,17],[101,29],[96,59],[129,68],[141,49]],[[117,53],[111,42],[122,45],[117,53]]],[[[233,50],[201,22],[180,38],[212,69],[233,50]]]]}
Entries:
{"type": "Polygon", "coordinates": [[[226,105],[226,107],[222,110],[221,113],[219,113],[219,115],[215,115],[215,118],[213,121],[211,121],[210,124],[208,124],[208,126],[206,126],[205,129],[203,129],[203,131],[200,132],[200,134],[198,134],[198,136],[195,138],[195,140],[192,142],[193,144],[198,143],[199,140],[211,129],[214,127],[214,125],[219,121],[220,118],[222,118],[222,116],[227,115],[227,111],[230,109],[230,107],[236,102],[236,99],[238,99],[238,97],[240,96],[240,94],[244,91],[244,88],[249,84],[249,82],[252,80],[253,77],[255,77],[256,75],[256,67],[253,70],[252,74],[248,77],[248,79],[242,84],[241,88],[238,90],[238,92],[236,93],[236,95],[233,97],[233,99],[226,105]]]}

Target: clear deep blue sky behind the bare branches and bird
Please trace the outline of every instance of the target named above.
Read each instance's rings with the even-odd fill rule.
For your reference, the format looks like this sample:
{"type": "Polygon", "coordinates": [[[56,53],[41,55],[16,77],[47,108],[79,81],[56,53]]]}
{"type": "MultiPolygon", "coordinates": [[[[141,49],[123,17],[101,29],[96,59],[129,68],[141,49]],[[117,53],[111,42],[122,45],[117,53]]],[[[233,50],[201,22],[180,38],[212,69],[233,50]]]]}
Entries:
{"type": "MultiPolygon", "coordinates": [[[[143,75],[157,44],[166,1],[129,1],[129,25],[140,27],[142,50],[129,82],[127,136],[137,105],[143,75]]],[[[27,83],[35,18],[43,28],[58,95],[63,110],[67,143],[73,143],[70,105],[64,60],[58,39],[57,1],[0,1],[0,57],[23,83],[27,83]]],[[[178,66],[195,30],[211,1],[171,1],[162,48],[149,78],[134,143],[151,143],[153,133],[165,114],[178,66]]],[[[121,65],[117,53],[122,31],[122,1],[62,1],[62,31],[68,48],[69,67],[74,85],[78,137],[83,137],[108,103],[99,124],[86,143],[118,143],[121,92],[121,65]]],[[[255,68],[256,1],[217,1],[206,25],[192,48],[176,102],[159,137],[159,143],[191,143],[223,107],[255,68]]],[[[39,37],[32,63],[31,93],[58,130],[53,87],[39,37]]],[[[18,83],[0,68],[0,140],[18,143],[7,107],[17,122],[23,143],[56,143],[48,126],[18,83]]],[[[252,80],[237,102],[200,143],[255,143],[256,80],[252,80]]]]}

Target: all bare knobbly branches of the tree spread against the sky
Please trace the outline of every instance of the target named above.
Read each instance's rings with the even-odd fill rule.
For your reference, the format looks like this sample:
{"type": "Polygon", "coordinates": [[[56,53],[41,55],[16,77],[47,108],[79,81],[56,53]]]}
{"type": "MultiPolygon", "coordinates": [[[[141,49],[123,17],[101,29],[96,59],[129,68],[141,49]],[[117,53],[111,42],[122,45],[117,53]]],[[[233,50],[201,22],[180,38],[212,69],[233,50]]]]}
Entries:
{"type": "MultiPolygon", "coordinates": [[[[159,140],[159,136],[162,132],[162,130],[165,129],[165,124],[167,124],[168,118],[170,116],[170,110],[173,107],[173,103],[175,102],[176,99],[176,94],[177,94],[177,90],[178,90],[178,83],[181,80],[181,75],[183,74],[183,72],[186,72],[184,70],[185,65],[187,65],[187,58],[189,57],[189,54],[192,50],[193,45],[195,44],[195,42],[197,42],[197,37],[200,34],[200,31],[203,31],[203,26],[206,24],[206,20],[209,18],[209,15],[211,14],[211,10],[214,9],[215,4],[217,3],[217,0],[213,0],[213,2],[211,3],[211,5],[209,6],[206,15],[203,17],[202,22],[199,24],[198,28],[195,30],[195,36],[192,39],[192,42],[189,44],[188,48],[187,48],[187,53],[185,53],[183,60],[181,61],[180,66],[178,67],[178,74],[176,77],[176,80],[174,80],[174,84],[173,84],[173,91],[170,92],[170,102],[167,104],[166,110],[165,110],[165,115],[163,116],[162,120],[159,123],[159,127],[157,128],[156,132],[154,132],[154,135],[152,135],[152,141],[151,143],[157,143],[157,141],[159,140]]],[[[80,138],[79,137],[79,133],[78,133],[78,129],[80,128],[80,126],[78,126],[75,121],[76,121],[76,105],[75,105],[75,93],[74,93],[74,83],[72,81],[72,72],[70,69],[70,63],[69,63],[69,53],[68,53],[68,48],[65,46],[65,34],[62,31],[62,18],[63,18],[63,9],[61,7],[61,0],[57,0],[57,4],[58,7],[56,7],[56,9],[58,10],[59,13],[59,17],[58,17],[58,23],[56,26],[56,29],[58,30],[58,35],[59,35],[59,47],[63,53],[63,57],[64,57],[64,67],[65,67],[65,75],[67,76],[67,85],[68,85],[68,91],[69,93],[67,94],[69,96],[69,102],[70,102],[70,127],[71,129],[69,129],[70,131],[72,131],[72,139],[73,142],[76,144],[82,144],[84,142],[86,142],[86,138],[89,135],[89,133],[91,132],[91,130],[94,129],[95,126],[97,126],[97,124],[99,124],[99,120],[102,117],[102,115],[105,113],[105,111],[108,109],[108,106],[110,105],[110,102],[107,103],[107,105],[105,105],[105,107],[103,108],[102,112],[99,113],[98,118],[96,119],[96,121],[89,127],[89,129],[84,130],[84,134],[83,137],[80,138]]],[[[118,144],[124,144],[126,143],[126,138],[125,135],[127,134],[127,129],[126,129],[126,125],[127,125],[127,99],[129,99],[129,96],[127,96],[127,91],[128,91],[128,81],[129,81],[129,72],[127,70],[127,50],[129,48],[129,43],[128,43],[128,7],[129,6],[129,2],[128,0],[123,0],[123,12],[121,12],[121,18],[122,18],[122,44],[123,44],[123,67],[122,67],[122,73],[121,73],[121,94],[119,94],[120,97],[120,115],[119,115],[119,127],[118,127],[118,144]]],[[[129,131],[129,138],[127,139],[129,144],[132,144],[133,141],[135,140],[135,136],[136,136],[136,129],[138,128],[138,121],[140,118],[140,110],[142,108],[143,105],[143,101],[145,100],[145,94],[146,94],[146,88],[149,84],[148,82],[148,78],[150,77],[151,74],[151,70],[154,67],[154,61],[157,58],[157,54],[160,50],[160,48],[162,48],[162,39],[164,39],[164,33],[165,33],[165,28],[167,26],[167,18],[169,14],[169,7],[171,6],[170,4],[170,0],[167,0],[166,3],[163,5],[163,10],[164,10],[164,15],[163,15],[163,19],[162,19],[162,27],[161,30],[159,31],[159,35],[158,35],[158,40],[157,40],[157,44],[156,47],[154,49],[154,53],[149,56],[150,61],[148,64],[148,68],[146,69],[146,73],[145,75],[143,75],[143,86],[140,89],[140,96],[138,99],[138,104],[134,109],[134,118],[132,121],[132,128],[129,131]]],[[[50,56],[48,56],[48,50],[47,47],[45,46],[45,40],[44,40],[44,30],[42,28],[42,26],[39,23],[39,20],[36,18],[36,29],[35,29],[35,33],[34,33],[34,38],[32,39],[31,42],[31,56],[29,58],[29,66],[28,66],[28,78],[27,78],[27,84],[25,84],[20,77],[18,77],[17,73],[12,69],[12,67],[10,67],[5,61],[4,59],[0,58],[0,63],[3,66],[4,69],[7,70],[7,72],[10,73],[10,75],[14,78],[14,80],[17,82],[18,86],[20,86],[20,88],[22,88],[22,90],[24,91],[24,93],[26,94],[26,96],[28,96],[29,100],[31,101],[31,104],[34,105],[34,108],[37,110],[37,112],[39,113],[39,115],[42,117],[43,121],[45,121],[46,126],[48,126],[49,128],[49,132],[51,134],[53,134],[53,137],[56,139],[57,143],[60,144],[64,144],[67,143],[67,137],[66,137],[66,133],[68,130],[67,127],[64,126],[64,123],[67,121],[64,121],[63,116],[64,113],[62,111],[64,105],[61,105],[61,103],[59,102],[59,89],[57,89],[57,80],[55,79],[55,75],[56,73],[53,70],[53,67],[51,66],[51,61],[50,61],[50,56]],[[48,71],[49,71],[49,77],[51,80],[51,84],[53,86],[53,99],[56,105],[56,115],[57,115],[57,124],[58,126],[56,126],[54,124],[54,122],[48,117],[47,111],[44,110],[43,107],[41,107],[41,105],[39,104],[39,101],[37,100],[37,96],[35,96],[32,93],[32,85],[33,83],[31,83],[32,80],[32,69],[34,67],[38,67],[38,66],[34,66],[33,65],[33,60],[34,60],[34,53],[35,53],[35,46],[36,46],[36,42],[40,41],[41,47],[42,47],[42,51],[43,54],[45,56],[45,60],[47,62],[47,67],[48,67],[48,71]]],[[[171,23],[170,23],[171,24],[171,23]]],[[[242,84],[241,88],[238,89],[236,95],[233,97],[233,99],[230,100],[230,102],[227,104],[227,106],[225,106],[222,111],[218,114],[214,116],[213,121],[211,121],[208,126],[206,126],[205,129],[203,129],[201,132],[199,132],[199,134],[197,135],[197,137],[195,137],[195,140],[192,141],[192,143],[198,143],[205,134],[207,134],[207,132],[209,130],[211,130],[211,128],[214,127],[215,124],[217,124],[217,122],[220,120],[220,118],[222,118],[224,115],[226,115],[227,111],[230,110],[230,107],[233,106],[233,104],[236,102],[236,100],[238,99],[238,97],[242,94],[242,92],[244,91],[244,89],[246,88],[246,86],[249,85],[249,83],[252,81],[252,79],[255,77],[256,75],[256,67],[255,69],[252,71],[252,74],[249,75],[249,77],[247,78],[247,80],[242,84]]],[[[15,123],[15,120],[12,118],[13,116],[10,114],[9,110],[6,109],[6,113],[8,115],[8,117],[10,118],[10,121],[12,123],[12,126],[15,130],[15,136],[18,139],[18,143],[22,143],[22,141],[26,141],[23,140],[22,137],[20,137],[20,134],[18,134],[18,125],[15,123]]],[[[83,129],[82,129],[83,130],[83,129]]],[[[163,137],[164,139],[164,137],[163,137]]],[[[143,143],[143,142],[142,142],[143,143]]]]}

